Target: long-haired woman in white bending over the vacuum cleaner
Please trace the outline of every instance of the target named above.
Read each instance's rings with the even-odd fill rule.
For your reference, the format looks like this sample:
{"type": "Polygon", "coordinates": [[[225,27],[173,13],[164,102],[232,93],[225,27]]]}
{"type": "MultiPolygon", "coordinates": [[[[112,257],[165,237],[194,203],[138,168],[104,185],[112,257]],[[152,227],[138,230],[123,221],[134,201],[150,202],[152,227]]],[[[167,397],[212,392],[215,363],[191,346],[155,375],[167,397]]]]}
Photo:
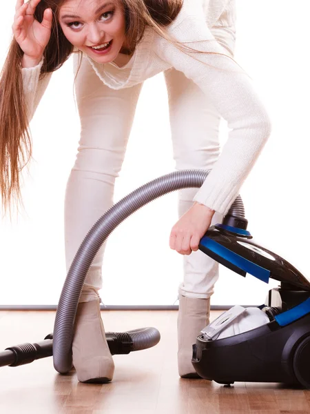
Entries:
{"type": "MultiPolygon", "coordinates": [[[[216,263],[196,251],[198,242],[211,220],[227,213],[270,133],[265,108],[231,58],[234,0],[18,0],[13,33],[1,76],[5,206],[19,199],[19,170],[31,152],[27,128],[51,73],[80,51],[74,62],[81,139],[65,200],[68,267],[87,231],[112,205],[142,83],[165,72],[176,168],[212,169],[198,191],[180,192],[180,219],[169,241],[185,255],[178,371],[194,376],[192,344],[208,323],[218,278],[216,263]],[[219,156],[220,116],[231,132],[219,156]]],[[[72,353],[81,382],[109,381],[114,373],[99,308],[103,249],[76,314],[72,353]]]]}

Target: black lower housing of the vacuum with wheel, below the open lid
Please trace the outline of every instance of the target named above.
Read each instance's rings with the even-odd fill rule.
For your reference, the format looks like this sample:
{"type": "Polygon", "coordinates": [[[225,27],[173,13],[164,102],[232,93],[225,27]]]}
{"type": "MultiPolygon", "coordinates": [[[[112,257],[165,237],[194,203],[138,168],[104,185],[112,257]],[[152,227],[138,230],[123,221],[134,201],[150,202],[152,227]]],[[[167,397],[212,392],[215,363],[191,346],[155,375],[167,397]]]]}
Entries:
{"type": "Polygon", "coordinates": [[[276,320],[218,340],[200,335],[192,364],[200,377],[220,384],[285,382],[310,386],[310,315],[287,326],[276,320]],[[307,370],[304,368],[307,367],[307,370]]]}

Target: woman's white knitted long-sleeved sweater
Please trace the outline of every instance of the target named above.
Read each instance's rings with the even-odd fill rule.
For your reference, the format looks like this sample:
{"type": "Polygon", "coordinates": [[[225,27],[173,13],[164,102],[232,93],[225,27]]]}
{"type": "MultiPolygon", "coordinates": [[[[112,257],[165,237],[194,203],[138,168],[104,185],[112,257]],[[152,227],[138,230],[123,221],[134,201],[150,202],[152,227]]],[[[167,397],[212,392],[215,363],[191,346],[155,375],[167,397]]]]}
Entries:
{"type": "MultiPolygon", "coordinates": [[[[211,97],[230,129],[229,139],[194,200],[226,214],[254,166],[270,134],[270,122],[247,74],[214,39],[212,28],[230,0],[184,0],[168,32],[177,41],[205,53],[187,54],[147,28],[130,61],[121,68],[88,58],[96,74],[110,88],[130,88],[168,68],[176,68],[211,97]]],[[[224,47],[223,47],[224,46],[224,47]]],[[[23,85],[31,119],[45,91],[50,74],[39,81],[42,62],[23,68],[23,85]]]]}

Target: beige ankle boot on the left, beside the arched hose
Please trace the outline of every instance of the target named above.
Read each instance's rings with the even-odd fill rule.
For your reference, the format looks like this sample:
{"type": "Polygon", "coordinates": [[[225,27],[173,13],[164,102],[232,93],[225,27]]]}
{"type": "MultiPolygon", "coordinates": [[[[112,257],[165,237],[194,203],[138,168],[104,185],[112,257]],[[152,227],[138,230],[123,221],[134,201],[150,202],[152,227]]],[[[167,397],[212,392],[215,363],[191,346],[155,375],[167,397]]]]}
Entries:
{"type": "Polygon", "coordinates": [[[74,324],[72,358],[80,382],[108,382],[114,362],[100,315],[99,299],[78,305],[74,324]]]}

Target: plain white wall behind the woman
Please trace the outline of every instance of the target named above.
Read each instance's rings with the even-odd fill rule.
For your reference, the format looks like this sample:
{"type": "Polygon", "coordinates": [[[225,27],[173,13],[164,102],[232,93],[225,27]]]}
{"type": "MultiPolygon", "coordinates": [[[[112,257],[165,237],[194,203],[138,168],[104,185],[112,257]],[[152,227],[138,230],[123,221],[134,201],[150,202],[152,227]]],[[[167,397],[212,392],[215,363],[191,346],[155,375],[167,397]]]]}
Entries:
{"type": "MultiPolygon", "coordinates": [[[[242,188],[249,230],[306,276],[309,12],[306,0],[238,0],[236,46],[236,60],[254,79],[273,120],[271,139],[242,188]]],[[[1,13],[0,66],[10,41],[14,2],[4,2],[1,13]]],[[[25,211],[12,224],[8,219],[0,222],[2,305],[58,302],[65,278],[63,198],[79,140],[72,81],[68,61],[54,73],[31,124],[34,161],[23,188],[25,211]]],[[[143,87],[115,201],[172,170],[167,97],[158,75],[143,87]]],[[[105,304],[175,302],[182,259],[169,249],[168,239],[176,219],[176,194],[167,195],[115,230],[103,265],[105,304]]],[[[269,287],[222,267],[212,304],[260,304],[269,287]]]]}

